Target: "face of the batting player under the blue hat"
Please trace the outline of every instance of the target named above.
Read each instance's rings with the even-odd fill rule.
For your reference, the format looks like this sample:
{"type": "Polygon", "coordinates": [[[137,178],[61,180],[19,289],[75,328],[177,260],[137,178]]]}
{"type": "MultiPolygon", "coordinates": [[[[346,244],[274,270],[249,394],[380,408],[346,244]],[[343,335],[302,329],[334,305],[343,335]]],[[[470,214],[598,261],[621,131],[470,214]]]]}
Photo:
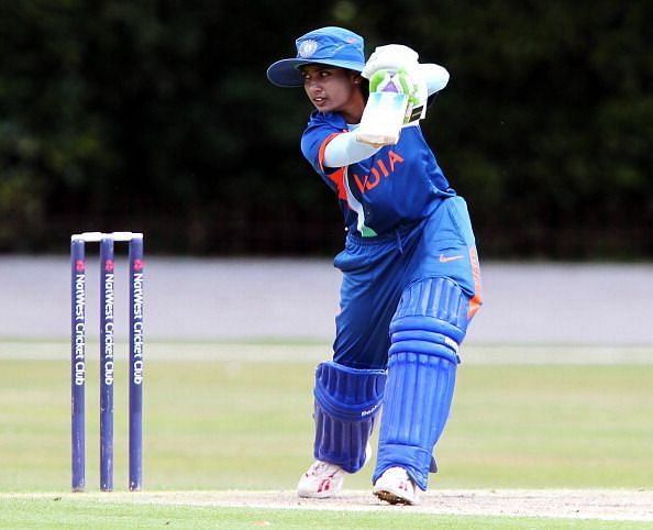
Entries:
{"type": "Polygon", "coordinates": [[[358,123],[365,100],[361,76],[352,70],[324,65],[301,67],[303,89],[320,112],[341,112],[347,123],[358,123]]]}

